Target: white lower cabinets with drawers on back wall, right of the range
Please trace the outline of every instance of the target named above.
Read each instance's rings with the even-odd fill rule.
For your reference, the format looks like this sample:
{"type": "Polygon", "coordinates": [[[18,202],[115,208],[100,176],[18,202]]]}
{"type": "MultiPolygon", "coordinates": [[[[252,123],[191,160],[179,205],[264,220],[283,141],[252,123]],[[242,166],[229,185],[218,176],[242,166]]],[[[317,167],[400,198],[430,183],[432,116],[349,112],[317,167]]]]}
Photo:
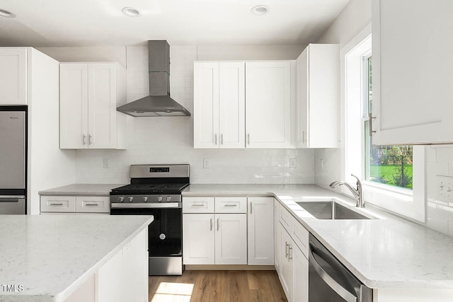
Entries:
{"type": "Polygon", "coordinates": [[[185,265],[274,265],[273,197],[183,197],[185,265]]]}

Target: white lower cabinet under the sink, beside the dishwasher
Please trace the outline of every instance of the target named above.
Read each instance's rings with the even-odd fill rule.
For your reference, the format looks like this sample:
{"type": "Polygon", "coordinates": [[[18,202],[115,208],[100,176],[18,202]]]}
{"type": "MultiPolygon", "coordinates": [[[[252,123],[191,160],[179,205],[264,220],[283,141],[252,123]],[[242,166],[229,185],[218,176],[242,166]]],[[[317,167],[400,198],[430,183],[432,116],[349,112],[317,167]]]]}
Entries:
{"type": "MultiPolygon", "coordinates": [[[[282,206],[275,201],[275,208],[279,207],[282,206]]],[[[278,209],[278,211],[286,210],[278,209]]],[[[282,216],[276,212],[275,217],[275,268],[283,291],[289,302],[308,302],[309,260],[308,250],[305,248],[309,246],[308,231],[294,217],[287,224],[288,230],[278,219],[282,216]]],[[[287,221],[284,223],[286,225],[287,221]]]]}

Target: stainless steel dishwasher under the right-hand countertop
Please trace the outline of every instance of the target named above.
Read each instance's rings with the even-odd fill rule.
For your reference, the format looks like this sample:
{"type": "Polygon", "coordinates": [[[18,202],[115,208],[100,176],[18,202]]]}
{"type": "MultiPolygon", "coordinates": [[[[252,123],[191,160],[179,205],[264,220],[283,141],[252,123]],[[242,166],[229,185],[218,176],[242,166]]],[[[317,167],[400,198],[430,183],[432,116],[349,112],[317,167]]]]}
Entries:
{"type": "Polygon", "coordinates": [[[373,291],[310,234],[309,301],[372,302],[373,291]]]}

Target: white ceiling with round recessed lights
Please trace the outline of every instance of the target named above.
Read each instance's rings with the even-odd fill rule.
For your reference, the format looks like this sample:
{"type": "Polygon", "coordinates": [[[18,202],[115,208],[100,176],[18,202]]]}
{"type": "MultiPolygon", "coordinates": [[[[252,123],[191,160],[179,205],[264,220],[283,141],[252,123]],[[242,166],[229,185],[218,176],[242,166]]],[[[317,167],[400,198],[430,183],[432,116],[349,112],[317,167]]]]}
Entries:
{"type": "Polygon", "coordinates": [[[2,46],[286,45],[316,42],[349,0],[2,0],[2,46]],[[251,8],[270,7],[265,16],[251,8]],[[121,9],[142,11],[127,17],[121,9]]]}

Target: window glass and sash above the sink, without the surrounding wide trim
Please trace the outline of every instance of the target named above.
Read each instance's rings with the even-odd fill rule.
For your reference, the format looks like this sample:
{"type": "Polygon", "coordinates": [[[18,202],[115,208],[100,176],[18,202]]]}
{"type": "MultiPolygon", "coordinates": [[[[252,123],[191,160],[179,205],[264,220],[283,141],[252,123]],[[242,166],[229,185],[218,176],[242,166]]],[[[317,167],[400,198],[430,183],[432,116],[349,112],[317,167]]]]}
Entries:
{"type": "Polygon", "coordinates": [[[364,134],[364,177],[363,180],[412,189],[413,148],[412,146],[373,145],[369,135],[369,117],[372,113],[372,54],[363,57],[363,108],[362,129],[364,134]]]}

